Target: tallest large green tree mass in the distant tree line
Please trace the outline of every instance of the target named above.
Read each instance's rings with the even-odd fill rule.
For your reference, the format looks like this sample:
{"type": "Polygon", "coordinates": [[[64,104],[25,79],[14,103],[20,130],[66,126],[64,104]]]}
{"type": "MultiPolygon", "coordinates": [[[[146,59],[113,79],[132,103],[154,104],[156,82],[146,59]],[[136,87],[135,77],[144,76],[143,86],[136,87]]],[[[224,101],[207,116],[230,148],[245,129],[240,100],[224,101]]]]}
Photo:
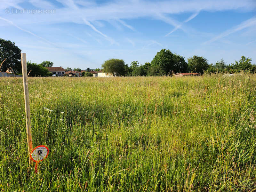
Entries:
{"type": "Polygon", "coordinates": [[[161,73],[164,71],[164,75],[168,75],[172,72],[186,72],[187,68],[188,64],[184,57],[176,53],[173,54],[169,49],[162,49],[160,52],[156,53],[156,56],[151,61],[149,70],[151,72],[161,71],[161,73]],[[156,70],[153,68],[156,68],[156,70]]]}

